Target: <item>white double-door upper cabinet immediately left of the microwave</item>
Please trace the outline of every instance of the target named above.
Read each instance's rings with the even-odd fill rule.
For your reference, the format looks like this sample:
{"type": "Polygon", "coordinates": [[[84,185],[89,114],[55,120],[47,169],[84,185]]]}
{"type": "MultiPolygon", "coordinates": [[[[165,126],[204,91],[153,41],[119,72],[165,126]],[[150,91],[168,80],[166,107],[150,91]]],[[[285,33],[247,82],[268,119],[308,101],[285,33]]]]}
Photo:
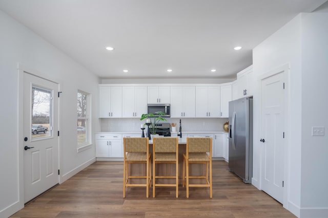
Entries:
{"type": "Polygon", "coordinates": [[[147,114],[147,86],[122,87],[122,117],[135,118],[147,114]]]}

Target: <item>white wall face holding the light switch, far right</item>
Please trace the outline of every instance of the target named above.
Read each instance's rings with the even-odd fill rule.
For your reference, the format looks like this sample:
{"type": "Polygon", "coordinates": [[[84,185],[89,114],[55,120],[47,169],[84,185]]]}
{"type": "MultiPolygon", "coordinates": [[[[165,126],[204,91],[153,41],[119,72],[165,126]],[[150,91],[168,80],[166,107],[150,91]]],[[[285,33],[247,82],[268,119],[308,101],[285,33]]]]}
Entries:
{"type": "Polygon", "coordinates": [[[328,212],[328,13],[302,14],[301,215],[328,212]],[[325,136],[312,136],[324,126],[325,136]]]}

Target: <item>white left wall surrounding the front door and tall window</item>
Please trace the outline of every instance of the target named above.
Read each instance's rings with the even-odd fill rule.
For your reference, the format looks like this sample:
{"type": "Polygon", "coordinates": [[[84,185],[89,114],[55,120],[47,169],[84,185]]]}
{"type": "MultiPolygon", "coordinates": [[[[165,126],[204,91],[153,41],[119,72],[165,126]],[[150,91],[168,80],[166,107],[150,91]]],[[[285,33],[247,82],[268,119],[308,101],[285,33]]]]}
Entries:
{"type": "Polygon", "coordinates": [[[31,30],[17,23],[0,11],[0,72],[2,85],[1,123],[0,125],[0,217],[7,217],[24,206],[22,187],[19,182],[22,175],[22,139],[18,138],[18,70],[17,63],[23,64],[31,73],[60,83],[63,92],[60,97],[60,170],[61,181],[66,180],[80,168],[95,160],[94,145],[90,149],[77,153],[76,150],[76,97],[77,90],[92,94],[92,128],[100,129],[96,117],[98,98],[98,78],[88,72],[63,52],[50,45],[31,30]],[[65,176],[66,175],[66,176],[65,176]]]}

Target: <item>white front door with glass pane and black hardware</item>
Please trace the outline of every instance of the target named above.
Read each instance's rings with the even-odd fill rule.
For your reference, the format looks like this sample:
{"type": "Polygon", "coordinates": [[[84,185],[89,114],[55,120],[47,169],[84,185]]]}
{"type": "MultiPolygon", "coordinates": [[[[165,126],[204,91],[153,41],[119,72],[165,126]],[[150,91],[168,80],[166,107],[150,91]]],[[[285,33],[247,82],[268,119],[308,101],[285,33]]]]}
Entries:
{"type": "Polygon", "coordinates": [[[58,184],[58,84],[24,73],[24,202],[58,184]]]}

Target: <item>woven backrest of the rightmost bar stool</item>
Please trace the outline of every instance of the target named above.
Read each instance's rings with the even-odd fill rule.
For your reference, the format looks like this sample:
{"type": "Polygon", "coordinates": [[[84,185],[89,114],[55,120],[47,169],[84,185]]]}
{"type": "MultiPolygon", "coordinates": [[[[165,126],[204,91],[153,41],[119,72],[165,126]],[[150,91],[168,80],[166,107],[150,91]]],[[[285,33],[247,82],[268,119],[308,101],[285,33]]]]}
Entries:
{"type": "Polygon", "coordinates": [[[187,138],[188,152],[212,152],[212,138],[187,138]]]}

